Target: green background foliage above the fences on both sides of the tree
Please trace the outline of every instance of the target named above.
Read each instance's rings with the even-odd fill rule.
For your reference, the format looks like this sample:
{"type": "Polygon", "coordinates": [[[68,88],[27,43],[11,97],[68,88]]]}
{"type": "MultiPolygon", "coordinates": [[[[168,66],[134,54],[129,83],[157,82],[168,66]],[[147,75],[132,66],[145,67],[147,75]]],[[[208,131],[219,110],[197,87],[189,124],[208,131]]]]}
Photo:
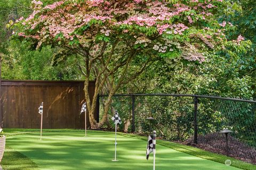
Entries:
{"type": "MultiPolygon", "coordinates": [[[[46,5],[54,1],[42,2],[46,5]]],[[[6,24],[10,20],[28,16],[31,13],[30,3],[29,0],[0,2],[0,53],[4,54],[2,77],[32,80],[83,79],[77,67],[71,64],[72,58],[69,61],[54,62],[53,54],[58,49],[48,46],[34,52],[29,43],[10,40],[12,30],[6,24]]],[[[255,1],[230,0],[225,3],[229,6],[228,10],[215,17],[219,23],[227,21],[237,25],[236,28],[227,30],[227,35],[230,39],[243,35],[251,40],[249,52],[241,53],[236,58],[230,54],[209,56],[203,64],[163,59],[151,65],[145,73],[119,92],[188,93],[255,99],[255,1]]]]}

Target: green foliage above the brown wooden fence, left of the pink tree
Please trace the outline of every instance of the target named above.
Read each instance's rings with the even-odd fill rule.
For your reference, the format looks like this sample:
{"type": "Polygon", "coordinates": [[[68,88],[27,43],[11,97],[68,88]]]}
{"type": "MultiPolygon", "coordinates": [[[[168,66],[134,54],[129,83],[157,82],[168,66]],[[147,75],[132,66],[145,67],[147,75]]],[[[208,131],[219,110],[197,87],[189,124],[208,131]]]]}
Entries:
{"type": "MultiPolygon", "coordinates": [[[[44,1],[45,4],[54,1],[44,1]]],[[[57,48],[46,46],[41,50],[27,41],[11,39],[11,25],[21,16],[26,18],[33,10],[28,0],[0,1],[0,54],[2,78],[14,80],[81,80],[83,76],[74,65],[74,56],[67,60],[57,48]]]]}

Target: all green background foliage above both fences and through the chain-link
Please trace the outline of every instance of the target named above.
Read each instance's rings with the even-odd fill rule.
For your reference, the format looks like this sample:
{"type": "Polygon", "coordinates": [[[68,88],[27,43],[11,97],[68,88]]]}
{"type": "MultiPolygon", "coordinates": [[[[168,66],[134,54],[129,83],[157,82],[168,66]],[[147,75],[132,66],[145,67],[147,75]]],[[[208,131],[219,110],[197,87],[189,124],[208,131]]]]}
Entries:
{"type": "MultiPolygon", "coordinates": [[[[55,1],[42,2],[47,5],[55,1]]],[[[60,48],[50,45],[35,50],[35,45],[28,41],[21,42],[10,38],[13,31],[12,24],[21,16],[26,18],[32,12],[30,5],[30,0],[0,1],[2,78],[83,80],[83,74],[76,64],[77,61],[82,61],[82,58],[63,54],[60,48]]],[[[117,93],[197,94],[255,100],[255,6],[256,1],[253,0],[226,0],[223,1],[223,8],[219,8],[219,11],[215,11],[212,16],[219,24],[226,25],[228,40],[236,39],[241,35],[248,40],[243,41],[241,46],[227,43],[226,50],[218,49],[217,53],[206,53],[203,63],[183,60],[180,53],[168,53],[167,57],[162,56],[152,63],[145,72],[122,86],[117,93]]],[[[107,37],[98,37],[99,40],[103,38],[107,37]]],[[[140,44],[138,48],[139,46],[140,44]]],[[[143,62],[143,58],[139,59],[131,63],[134,72],[140,69],[143,62]]],[[[94,77],[92,76],[91,79],[94,77]]],[[[199,134],[207,135],[229,128],[236,132],[234,133],[236,139],[256,146],[255,105],[208,99],[199,102],[199,134]]],[[[121,111],[119,113],[124,120],[119,128],[130,131],[131,98],[113,98],[112,106],[121,111]]],[[[193,109],[193,101],[190,98],[137,98],[136,130],[147,133],[149,123],[145,117],[153,116],[157,119],[154,126],[157,127],[162,138],[175,141],[188,140],[193,135],[193,109]]],[[[111,122],[108,123],[109,127],[113,127],[111,122]]]]}

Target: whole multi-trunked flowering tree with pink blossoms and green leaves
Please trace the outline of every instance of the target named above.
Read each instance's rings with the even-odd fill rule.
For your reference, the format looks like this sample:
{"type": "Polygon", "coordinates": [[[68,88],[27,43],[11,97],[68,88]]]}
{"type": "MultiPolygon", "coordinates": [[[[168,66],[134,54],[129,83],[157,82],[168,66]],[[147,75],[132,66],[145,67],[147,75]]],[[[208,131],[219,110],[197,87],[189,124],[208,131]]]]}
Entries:
{"type": "Polygon", "coordinates": [[[85,75],[91,128],[106,122],[117,89],[158,57],[199,64],[214,50],[243,43],[243,37],[226,39],[223,30],[233,25],[214,20],[222,0],[66,0],[47,6],[34,0],[32,7],[34,12],[28,18],[17,20],[19,30],[13,35],[31,41],[37,49],[58,46],[63,53],[83,58],[76,64],[85,75]],[[93,99],[88,92],[90,75],[96,78],[93,99]],[[106,83],[109,96],[97,123],[97,96],[106,83]]]}

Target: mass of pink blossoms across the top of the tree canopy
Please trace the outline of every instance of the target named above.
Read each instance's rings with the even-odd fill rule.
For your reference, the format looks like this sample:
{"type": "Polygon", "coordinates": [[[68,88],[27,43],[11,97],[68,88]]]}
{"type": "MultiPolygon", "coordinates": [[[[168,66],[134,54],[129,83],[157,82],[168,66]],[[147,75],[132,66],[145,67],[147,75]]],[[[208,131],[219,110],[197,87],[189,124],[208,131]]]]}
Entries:
{"type": "MultiPolygon", "coordinates": [[[[39,1],[33,1],[35,2],[34,4],[41,4],[39,1]]],[[[47,5],[44,8],[36,8],[26,19],[26,22],[23,22],[23,19],[21,22],[27,25],[27,27],[23,27],[27,34],[32,34],[30,32],[33,32],[33,36],[26,35],[26,37],[38,39],[41,43],[52,41],[53,37],[61,33],[64,38],[63,43],[73,40],[75,35],[78,40],[85,45],[87,40],[93,40],[95,35],[99,33],[110,36],[110,34],[119,35],[120,32],[127,33],[127,35],[131,36],[134,36],[134,33],[138,33],[134,42],[145,43],[143,39],[138,40],[138,38],[148,38],[148,35],[164,38],[165,36],[159,36],[163,33],[182,35],[188,27],[183,23],[177,22],[193,23],[198,16],[205,19],[206,16],[212,15],[210,13],[212,10],[209,10],[209,8],[212,8],[213,4],[218,5],[218,3],[214,1],[216,0],[205,0],[207,3],[200,1],[200,4],[197,4],[199,3],[198,0],[178,1],[179,3],[170,5],[169,2],[159,0],[132,0],[123,1],[114,7],[114,5],[110,5],[110,1],[107,0],[87,0],[81,3],[79,1],[62,0],[47,5]],[[76,4],[76,2],[79,3],[76,4]],[[189,2],[194,4],[189,4],[189,2]],[[210,4],[210,2],[212,2],[212,4],[210,4]],[[191,10],[193,10],[193,12],[191,10]],[[188,13],[186,13],[187,11],[191,11],[189,12],[191,14],[188,15],[188,13]],[[100,22],[92,22],[92,20],[98,20],[100,22]],[[90,26],[87,27],[89,23],[90,26]],[[140,28],[138,29],[138,27],[140,28]],[[34,30],[27,31],[29,29],[34,30]],[[79,35],[77,31],[79,31],[79,35]]],[[[210,17],[207,19],[211,20],[210,17]]],[[[208,20],[205,22],[208,22],[208,20]]],[[[191,26],[190,24],[188,25],[191,26]]],[[[211,22],[209,22],[209,27],[211,27],[211,22]]],[[[194,28],[197,29],[198,25],[193,25],[193,29],[194,28]]],[[[210,29],[207,31],[204,30],[204,32],[205,37],[211,39],[211,36],[207,36],[206,33],[214,35],[214,32],[217,31],[210,29]]],[[[221,35],[221,32],[219,35],[221,35]]],[[[20,36],[25,36],[25,33],[20,33],[20,36]]],[[[60,39],[61,38],[59,38],[59,40],[60,39]]],[[[54,39],[54,41],[55,40],[56,39],[54,39]]],[[[179,40],[174,39],[174,41],[179,40]]],[[[41,44],[38,45],[40,46],[41,44]]],[[[169,47],[162,46],[159,52],[164,53],[168,50],[171,51],[169,47]]],[[[195,58],[196,56],[191,60],[195,58]]],[[[197,58],[200,57],[197,56],[197,58]]],[[[201,58],[200,61],[202,62],[203,58],[201,58]]]]}

